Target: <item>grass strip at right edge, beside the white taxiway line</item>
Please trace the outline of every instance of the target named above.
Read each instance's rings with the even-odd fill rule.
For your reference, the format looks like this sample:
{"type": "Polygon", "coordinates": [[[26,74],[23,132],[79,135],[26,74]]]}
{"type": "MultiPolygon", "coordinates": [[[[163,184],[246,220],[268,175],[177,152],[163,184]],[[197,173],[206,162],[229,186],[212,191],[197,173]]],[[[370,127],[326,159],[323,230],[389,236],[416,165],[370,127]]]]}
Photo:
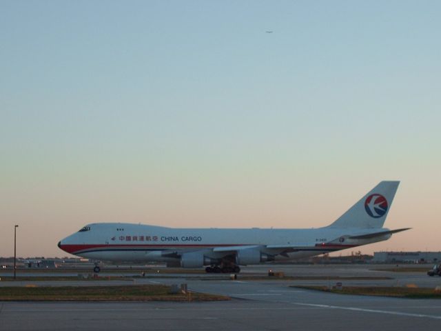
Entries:
{"type": "Polygon", "coordinates": [[[401,288],[386,286],[344,286],[341,290],[318,285],[292,285],[291,288],[302,288],[306,290],[318,290],[336,294],[370,295],[378,297],[396,297],[409,299],[441,299],[441,292],[435,292],[433,288],[401,288]]]}

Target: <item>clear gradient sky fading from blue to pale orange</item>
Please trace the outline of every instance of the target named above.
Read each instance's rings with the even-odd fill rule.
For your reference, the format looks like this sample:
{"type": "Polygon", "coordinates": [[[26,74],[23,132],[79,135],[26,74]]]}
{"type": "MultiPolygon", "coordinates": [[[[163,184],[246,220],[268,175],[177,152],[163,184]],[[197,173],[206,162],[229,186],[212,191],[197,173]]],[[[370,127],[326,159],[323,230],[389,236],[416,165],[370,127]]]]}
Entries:
{"type": "Polygon", "coordinates": [[[92,222],[316,228],[384,179],[413,230],[362,252],[440,250],[440,14],[1,0],[0,256],[14,224],[22,257],[92,222]]]}

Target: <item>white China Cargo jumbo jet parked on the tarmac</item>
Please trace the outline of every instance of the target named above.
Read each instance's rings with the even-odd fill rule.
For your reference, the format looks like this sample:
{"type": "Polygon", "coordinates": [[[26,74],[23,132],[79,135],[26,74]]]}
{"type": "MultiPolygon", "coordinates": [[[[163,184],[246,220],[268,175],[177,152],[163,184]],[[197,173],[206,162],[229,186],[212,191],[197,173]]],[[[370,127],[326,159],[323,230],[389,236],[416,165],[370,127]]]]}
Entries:
{"type": "MultiPolygon", "coordinates": [[[[409,230],[382,228],[399,181],[381,181],[334,223],[322,228],[166,228],[91,223],[59,241],[61,250],[100,261],[160,262],[240,272],[240,265],[296,260],[389,239],[409,230]]],[[[94,272],[99,272],[96,264],[94,272]]]]}

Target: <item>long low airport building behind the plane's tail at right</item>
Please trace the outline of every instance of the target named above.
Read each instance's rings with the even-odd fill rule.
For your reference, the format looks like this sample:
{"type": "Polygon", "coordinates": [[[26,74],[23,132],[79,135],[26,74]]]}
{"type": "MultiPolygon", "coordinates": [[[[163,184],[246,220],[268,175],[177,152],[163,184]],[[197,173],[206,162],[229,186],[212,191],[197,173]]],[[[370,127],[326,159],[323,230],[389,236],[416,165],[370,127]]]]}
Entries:
{"type": "Polygon", "coordinates": [[[439,263],[441,252],[374,252],[372,262],[439,263]]]}

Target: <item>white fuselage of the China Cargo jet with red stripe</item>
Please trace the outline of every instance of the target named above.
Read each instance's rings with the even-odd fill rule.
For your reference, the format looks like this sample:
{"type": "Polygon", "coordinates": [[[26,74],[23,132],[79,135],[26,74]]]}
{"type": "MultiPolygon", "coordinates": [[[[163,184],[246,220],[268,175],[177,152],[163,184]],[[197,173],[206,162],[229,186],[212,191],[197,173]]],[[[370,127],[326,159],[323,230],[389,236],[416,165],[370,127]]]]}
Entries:
{"type": "MultiPolygon", "coordinates": [[[[223,229],[223,228],[165,228],[131,223],[94,223],[88,230],[63,239],[60,248],[88,259],[107,261],[176,260],[172,252],[203,251],[216,259],[214,248],[258,246],[261,252],[274,254],[276,260],[302,259],[358,245],[389,239],[390,234],[373,239],[348,239],[351,235],[378,232],[378,229],[223,229]],[[267,248],[268,246],[274,246],[267,248]],[[279,248],[280,246],[280,248],[279,248]],[[283,255],[284,248],[296,249],[283,255]]],[[[382,229],[387,231],[388,229],[382,229]]]]}

